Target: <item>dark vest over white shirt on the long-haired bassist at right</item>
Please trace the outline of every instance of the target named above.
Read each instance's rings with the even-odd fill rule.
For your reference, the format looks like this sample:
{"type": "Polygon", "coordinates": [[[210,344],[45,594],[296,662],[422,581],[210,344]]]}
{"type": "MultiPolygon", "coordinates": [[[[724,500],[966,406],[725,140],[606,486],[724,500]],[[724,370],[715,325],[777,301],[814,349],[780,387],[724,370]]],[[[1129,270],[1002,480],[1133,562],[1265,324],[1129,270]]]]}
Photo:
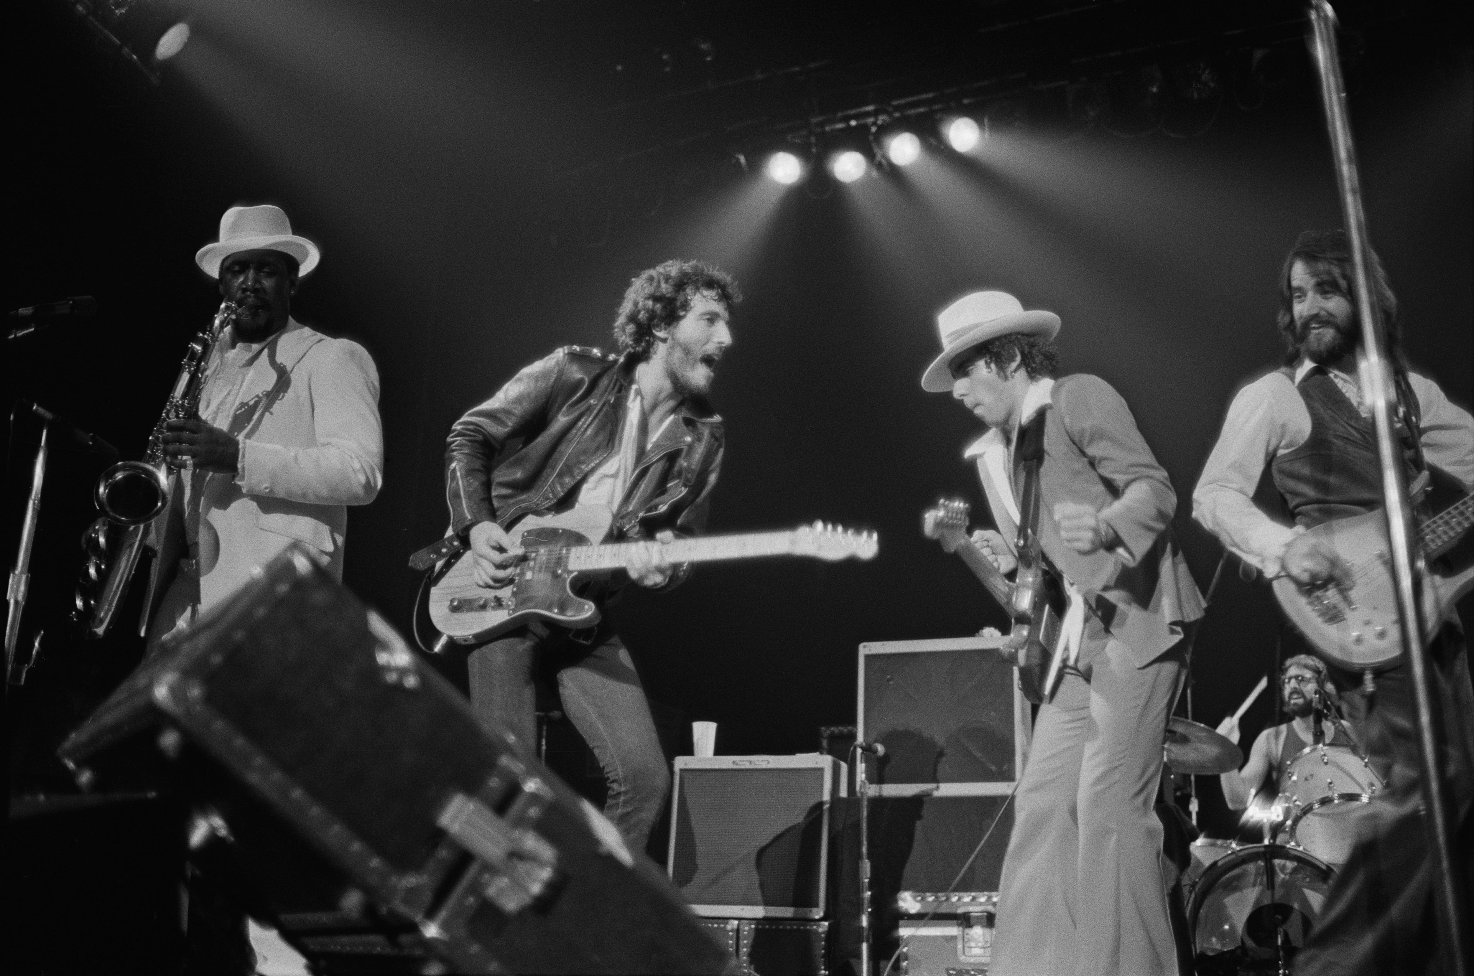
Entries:
{"type": "MultiPolygon", "coordinates": [[[[1294,382],[1293,370],[1282,372],[1294,382]]],[[[1324,369],[1312,370],[1296,391],[1310,413],[1310,436],[1269,466],[1296,525],[1310,528],[1383,507],[1372,419],[1356,411],[1324,369]]],[[[1406,436],[1403,441],[1406,476],[1412,481],[1415,469],[1406,457],[1406,436]]]]}

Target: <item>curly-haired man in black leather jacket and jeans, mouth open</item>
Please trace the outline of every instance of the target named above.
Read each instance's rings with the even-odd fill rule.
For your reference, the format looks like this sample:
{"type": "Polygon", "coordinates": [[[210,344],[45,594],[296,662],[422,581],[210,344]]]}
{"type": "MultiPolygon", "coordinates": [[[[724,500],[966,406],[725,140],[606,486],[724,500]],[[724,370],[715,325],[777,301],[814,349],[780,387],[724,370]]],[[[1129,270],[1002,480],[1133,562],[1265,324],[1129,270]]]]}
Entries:
{"type": "MultiPolygon", "coordinates": [[[[665,590],[685,578],[660,543],[706,522],[722,459],[722,422],[706,394],[738,301],[737,283],[715,267],[666,261],[625,292],[621,355],[563,346],[455,422],[445,494],[478,584],[510,582],[520,550],[506,529],[517,519],[575,504],[610,509],[612,538],[649,540],[625,566],[631,581],[665,590]]],[[[607,584],[604,602],[622,582],[607,584]]],[[[556,677],[563,712],[609,781],[604,812],[644,848],[671,774],[640,675],[607,619],[572,634],[541,624],[511,631],[475,649],[469,674],[478,715],[525,743],[535,734],[535,681],[556,677]]]]}

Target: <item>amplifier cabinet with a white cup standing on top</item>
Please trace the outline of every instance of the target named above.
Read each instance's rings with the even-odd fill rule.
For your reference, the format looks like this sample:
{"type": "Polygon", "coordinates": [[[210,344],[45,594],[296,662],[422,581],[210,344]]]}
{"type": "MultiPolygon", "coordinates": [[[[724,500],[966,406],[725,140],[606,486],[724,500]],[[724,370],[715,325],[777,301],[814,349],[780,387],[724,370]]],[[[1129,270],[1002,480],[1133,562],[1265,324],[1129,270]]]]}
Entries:
{"type": "Polygon", "coordinates": [[[833,756],[681,756],[671,790],[671,880],[699,916],[822,919],[833,756]]]}

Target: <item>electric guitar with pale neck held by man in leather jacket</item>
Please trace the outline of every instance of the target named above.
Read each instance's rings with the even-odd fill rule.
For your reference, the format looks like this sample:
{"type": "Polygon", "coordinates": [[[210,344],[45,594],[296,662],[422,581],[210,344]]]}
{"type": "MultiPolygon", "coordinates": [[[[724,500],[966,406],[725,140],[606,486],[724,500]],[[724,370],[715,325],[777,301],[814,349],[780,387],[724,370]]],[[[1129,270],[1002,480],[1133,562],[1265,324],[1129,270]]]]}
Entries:
{"type": "MultiPolygon", "coordinates": [[[[598,606],[579,596],[575,587],[624,569],[629,550],[644,544],[598,543],[612,523],[613,513],[604,507],[575,507],[520,519],[507,534],[525,551],[511,582],[497,588],[476,582],[475,560],[457,537],[436,543],[426,550],[441,559],[430,574],[426,597],[430,622],[458,644],[479,644],[532,621],[570,630],[597,624],[598,606]]],[[[879,541],[874,532],[815,522],[787,532],[678,538],[662,545],[672,563],[756,556],[812,556],[834,562],[871,559],[879,541]]]]}

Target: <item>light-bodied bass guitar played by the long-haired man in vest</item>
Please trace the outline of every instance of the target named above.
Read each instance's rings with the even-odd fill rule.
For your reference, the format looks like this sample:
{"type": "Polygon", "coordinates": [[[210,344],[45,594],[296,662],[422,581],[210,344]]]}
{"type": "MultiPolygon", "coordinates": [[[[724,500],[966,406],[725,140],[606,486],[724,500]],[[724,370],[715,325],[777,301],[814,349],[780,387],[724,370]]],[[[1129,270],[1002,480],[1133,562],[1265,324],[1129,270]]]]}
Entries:
{"type": "MultiPolygon", "coordinates": [[[[1418,526],[1417,543],[1428,563],[1458,545],[1474,526],[1474,494],[1465,495],[1418,526]]],[[[1387,516],[1368,512],[1309,529],[1335,548],[1352,584],[1302,585],[1288,576],[1274,581],[1275,597],[1290,622],[1318,652],[1353,671],[1386,668],[1402,656],[1402,622],[1387,543],[1387,516]]],[[[1462,560],[1461,560],[1462,562],[1462,560]]],[[[1430,640],[1449,606],[1474,587],[1474,563],[1422,576],[1424,640],[1430,640]]]]}

